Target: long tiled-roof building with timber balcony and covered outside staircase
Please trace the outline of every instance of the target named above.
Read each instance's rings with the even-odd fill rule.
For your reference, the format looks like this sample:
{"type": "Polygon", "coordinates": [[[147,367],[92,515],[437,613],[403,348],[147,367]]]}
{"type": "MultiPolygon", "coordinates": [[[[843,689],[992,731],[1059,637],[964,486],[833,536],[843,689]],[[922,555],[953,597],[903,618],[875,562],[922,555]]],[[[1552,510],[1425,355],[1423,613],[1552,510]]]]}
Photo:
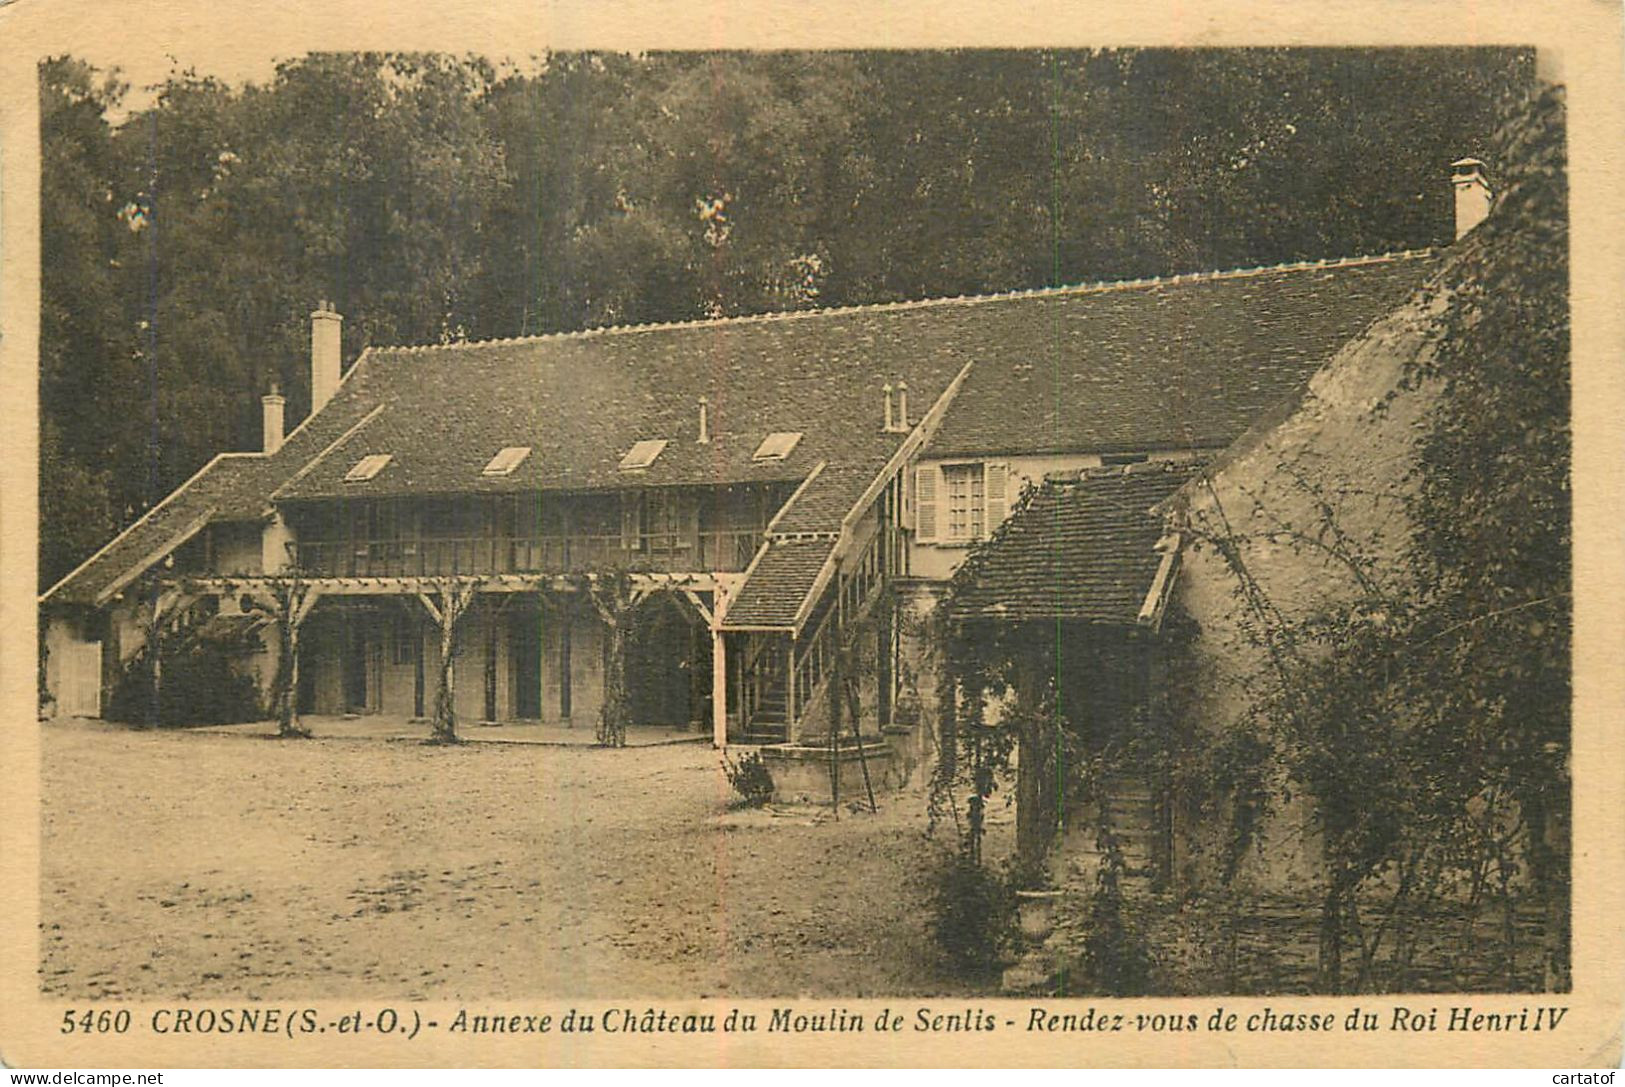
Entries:
{"type": "MultiPolygon", "coordinates": [[[[266,398],[263,452],[221,455],[52,587],[47,673],[99,640],[106,689],[166,600],[231,614],[297,577],[322,596],[301,635],[302,704],[422,715],[437,648],[413,640],[421,621],[403,624],[400,604],[460,585],[476,591],[468,637],[484,648],[458,713],[578,717],[613,682],[595,663],[608,634],[548,601],[613,574],[630,578],[630,606],[671,596],[689,616],[682,661],[634,661],[663,676],[635,705],[704,720],[717,743],[767,736],[772,712],[793,739],[821,713],[843,626],[884,585],[949,577],[1045,473],[1150,465],[1076,484],[1126,496],[1188,474],[1435,263],[1409,252],[370,348],[343,375],[341,317],[323,304],[314,414],[284,440],[281,398],[266,398]]],[[[1090,517],[1077,522],[1079,546],[1097,548],[1086,565],[1118,580],[1048,593],[1074,617],[1121,617],[1155,562],[1149,530],[1089,536],[1090,517]]],[[[1006,588],[1016,609],[1045,591],[1006,588]]]]}

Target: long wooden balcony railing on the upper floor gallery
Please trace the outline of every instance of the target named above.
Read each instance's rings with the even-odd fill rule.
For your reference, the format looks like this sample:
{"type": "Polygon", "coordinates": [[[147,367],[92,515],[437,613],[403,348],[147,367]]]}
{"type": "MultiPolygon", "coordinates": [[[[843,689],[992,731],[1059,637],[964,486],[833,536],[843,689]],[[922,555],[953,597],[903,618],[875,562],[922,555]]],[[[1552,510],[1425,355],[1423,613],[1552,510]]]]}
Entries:
{"type": "Polygon", "coordinates": [[[312,577],[440,577],[478,574],[702,574],[743,570],[760,533],[614,536],[471,536],[338,539],[296,544],[312,577]]]}

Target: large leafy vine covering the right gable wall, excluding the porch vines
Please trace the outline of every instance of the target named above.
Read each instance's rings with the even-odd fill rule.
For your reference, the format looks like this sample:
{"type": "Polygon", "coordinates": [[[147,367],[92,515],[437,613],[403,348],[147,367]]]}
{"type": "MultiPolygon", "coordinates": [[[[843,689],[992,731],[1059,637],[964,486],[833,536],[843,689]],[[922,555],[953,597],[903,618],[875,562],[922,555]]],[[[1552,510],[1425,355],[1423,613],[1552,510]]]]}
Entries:
{"type": "MultiPolygon", "coordinates": [[[[1228,481],[1193,499],[1191,549],[1228,574],[1233,622],[1256,650],[1235,756],[1222,881],[1276,806],[1303,793],[1320,858],[1316,986],[1404,988],[1419,926],[1462,916],[1472,968],[1485,907],[1500,913],[1503,972],[1518,972],[1521,899],[1544,899],[1544,972],[1566,985],[1568,429],[1566,252],[1560,97],[1503,133],[1508,188],[1459,244],[1412,328],[1430,349],[1398,396],[1430,405],[1401,539],[1350,530],[1350,499],[1378,499],[1308,450],[1276,452],[1274,494],[1228,481]],[[1227,509],[1235,502],[1238,510],[1227,509]],[[1285,551],[1337,591],[1287,604],[1259,572],[1285,551]],[[1268,561],[1268,559],[1266,559],[1268,561]],[[1318,565],[1316,565],[1318,564],[1318,565]],[[1381,952],[1386,951],[1386,962],[1381,952]]],[[[1227,765],[1225,765],[1227,764],[1227,765]]],[[[1480,983],[1482,986],[1482,983],[1480,983]]]]}

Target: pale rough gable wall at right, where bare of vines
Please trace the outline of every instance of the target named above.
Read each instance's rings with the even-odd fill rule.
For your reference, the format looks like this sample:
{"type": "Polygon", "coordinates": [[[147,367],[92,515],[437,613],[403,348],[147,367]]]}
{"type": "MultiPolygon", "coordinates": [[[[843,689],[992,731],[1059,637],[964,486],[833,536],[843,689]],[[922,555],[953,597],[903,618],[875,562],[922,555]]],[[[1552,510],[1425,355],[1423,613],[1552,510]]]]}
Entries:
{"type": "MultiPolygon", "coordinates": [[[[1360,585],[1350,559],[1384,593],[1404,593],[1401,552],[1410,533],[1404,502],[1414,486],[1415,439],[1436,392],[1404,390],[1401,377],[1430,349],[1422,330],[1445,304],[1445,296],[1419,297],[1380,320],[1316,374],[1290,416],[1243,437],[1211,479],[1180,496],[1175,517],[1186,535],[1168,624],[1185,624],[1193,640],[1172,697],[1198,751],[1232,728],[1250,692],[1271,678],[1246,629],[1253,616],[1237,593],[1235,562],[1222,557],[1219,541],[1235,544],[1245,572],[1287,622],[1352,601],[1360,585]]],[[[1201,886],[1217,874],[1228,819],[1191,814],[1191,806],[1186,817],[1180,811],[1175,876],[1201,886]]],[[[1297,791],[1277,804],[1243,860],[1240,884],[1313,886],[1318,847],[1310,816],[1297,791]]]]}

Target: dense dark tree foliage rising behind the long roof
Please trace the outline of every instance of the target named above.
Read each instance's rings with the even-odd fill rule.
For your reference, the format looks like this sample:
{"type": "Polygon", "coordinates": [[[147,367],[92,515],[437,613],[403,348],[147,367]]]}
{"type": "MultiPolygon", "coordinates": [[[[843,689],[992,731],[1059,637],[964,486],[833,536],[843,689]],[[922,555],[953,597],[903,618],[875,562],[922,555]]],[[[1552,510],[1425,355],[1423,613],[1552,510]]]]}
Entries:
{"type": "Polygon", "coordinates": [[[54,582],[344,348],[1445,242],[1514,50],[336,54],[41,70],[54,582]]]}

